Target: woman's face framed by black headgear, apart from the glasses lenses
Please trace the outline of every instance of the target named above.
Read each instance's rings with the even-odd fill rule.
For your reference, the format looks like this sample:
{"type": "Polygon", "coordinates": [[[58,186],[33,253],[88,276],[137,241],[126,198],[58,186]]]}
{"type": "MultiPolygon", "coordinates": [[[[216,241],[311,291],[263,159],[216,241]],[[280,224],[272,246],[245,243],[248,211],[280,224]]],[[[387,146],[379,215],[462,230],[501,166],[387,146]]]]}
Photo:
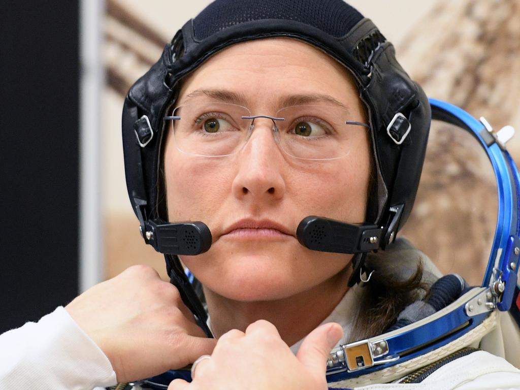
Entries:
{"type": "MultiPolygon", "coordinates": [[[[320,94],[346,106],[349,118],[341,120],[366,122],[350,80],[318,49],[270,38],[233,45],[211,57],[184,80],[176,106],[212,91],[210,99],[234,94],[245,99],[243,106],[252,115],[275,116],[289,97],[320,94]]],[[[296,228],[309,215],[362,222],[370,175],[365,127],[356,126],[345,157],[313,161],[284,153],[271,120],[259,118],[254,125],[245,146],[227,157],[179,151],[171,128],[165,141],[170,221],[200,220],[213,236],[208,252],[182,256],[182,261],[205,288],[238,301],[289,297],[344,270],[352,255],[311,251],[296,239],[296,228]]]]}

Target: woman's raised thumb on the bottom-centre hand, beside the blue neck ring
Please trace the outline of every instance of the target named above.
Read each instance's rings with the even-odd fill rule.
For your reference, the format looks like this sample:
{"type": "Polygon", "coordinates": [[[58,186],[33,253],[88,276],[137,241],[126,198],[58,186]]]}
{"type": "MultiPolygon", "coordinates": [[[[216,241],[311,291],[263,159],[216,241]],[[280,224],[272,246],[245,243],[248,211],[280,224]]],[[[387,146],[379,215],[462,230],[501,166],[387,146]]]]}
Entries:
{"type": "Polygon", "coordinates": [[[342,336],[343,329],[339,323],[323,324],[305,337],[296,358],[311,372],[323,375],[329,353],[342,336]]]}

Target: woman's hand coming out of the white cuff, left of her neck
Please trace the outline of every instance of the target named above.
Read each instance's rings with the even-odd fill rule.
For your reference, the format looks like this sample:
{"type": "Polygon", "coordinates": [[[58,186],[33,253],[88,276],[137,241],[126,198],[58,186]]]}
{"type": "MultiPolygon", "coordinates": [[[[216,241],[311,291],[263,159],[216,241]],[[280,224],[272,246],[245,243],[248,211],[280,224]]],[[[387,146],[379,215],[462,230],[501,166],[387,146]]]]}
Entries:
{"type": "Polygon", "coordinates": [[[133,266],[95,285],[65,307],[101,348],[119,382],[188,365],[211,354],[207,339],[174,285],[147,266],[133,266]]]}

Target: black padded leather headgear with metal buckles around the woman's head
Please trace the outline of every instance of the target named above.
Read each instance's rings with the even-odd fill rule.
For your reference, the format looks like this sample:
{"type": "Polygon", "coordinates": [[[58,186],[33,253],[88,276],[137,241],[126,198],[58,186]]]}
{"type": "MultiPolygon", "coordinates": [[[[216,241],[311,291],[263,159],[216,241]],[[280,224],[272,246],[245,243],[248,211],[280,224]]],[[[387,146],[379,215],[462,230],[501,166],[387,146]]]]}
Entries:
{"type": "Polygon", "coordinates": [[[383,248],[395,239],[419,185],[430,105],[400,67],[393,45],[342,0],[216,0],[177,32],[129,90],[123,108],[126,183],[142,229],[159,219],[163,116],[179,81],[230,45],[280,36],[318,47],[352,72],[367,108],[375,162],[367,222],[385,228],[383,248]]]}

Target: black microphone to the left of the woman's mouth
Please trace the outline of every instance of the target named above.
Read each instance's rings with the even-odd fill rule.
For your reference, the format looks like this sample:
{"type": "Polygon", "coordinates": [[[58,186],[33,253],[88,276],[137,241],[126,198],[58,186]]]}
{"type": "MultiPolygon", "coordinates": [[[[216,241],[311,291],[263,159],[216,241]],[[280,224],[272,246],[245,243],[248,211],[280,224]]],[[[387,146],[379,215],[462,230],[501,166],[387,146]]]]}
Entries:
{"type": "Polygon", "coordinates": [[[203,222],[166,223],[148,220],[143,236],[156,251],[170,255],[198,255],[211,247],[211,231],[203,222]]]}

